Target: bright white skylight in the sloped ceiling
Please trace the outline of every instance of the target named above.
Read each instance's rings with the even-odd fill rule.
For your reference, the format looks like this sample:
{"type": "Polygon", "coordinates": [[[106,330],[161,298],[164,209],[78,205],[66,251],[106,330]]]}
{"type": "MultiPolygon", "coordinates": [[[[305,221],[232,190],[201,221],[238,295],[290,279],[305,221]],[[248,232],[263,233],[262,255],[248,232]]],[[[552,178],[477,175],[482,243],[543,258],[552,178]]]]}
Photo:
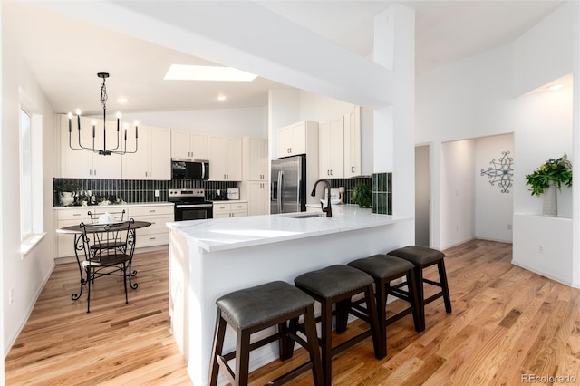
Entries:
{"type": "Polygon", "coordinates": [[[208,65],[171,64],[165,74],[166,81],[229,81],[252,82],[257,75],[243,72],[232,67],[208,65]]]}

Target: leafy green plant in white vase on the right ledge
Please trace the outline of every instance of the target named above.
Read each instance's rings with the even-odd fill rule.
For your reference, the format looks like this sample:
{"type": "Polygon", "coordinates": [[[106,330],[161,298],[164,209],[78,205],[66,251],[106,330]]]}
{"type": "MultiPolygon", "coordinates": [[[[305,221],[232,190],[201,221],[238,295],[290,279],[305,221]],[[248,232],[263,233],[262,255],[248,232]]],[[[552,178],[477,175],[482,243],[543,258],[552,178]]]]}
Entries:
{"type": "Polygon", "coordinates": [[[559,159],[548,159],[533,173],[526,176],[526,185],[532,192],[532,196],[544,194],[544,214],[557,214],[556,188],[560,190],[562,184],[572,186],[572,163],[566,154],[559,159]]]}

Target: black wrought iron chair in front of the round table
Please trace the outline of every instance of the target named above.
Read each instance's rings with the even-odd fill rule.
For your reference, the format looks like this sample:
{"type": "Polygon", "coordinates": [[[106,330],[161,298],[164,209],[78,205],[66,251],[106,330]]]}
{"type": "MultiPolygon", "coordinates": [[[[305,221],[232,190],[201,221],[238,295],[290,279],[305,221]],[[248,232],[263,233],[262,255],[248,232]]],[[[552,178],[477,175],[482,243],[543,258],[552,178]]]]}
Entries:
{"type": "Polygon", "coordinates": [[[78,300],[82,295],[82,288],[87,285],[87,313],[91,312],[91,285],[94,280],[105,275],[122,276],[125,288],[125,304],[129,303],[127,294],[127,278],[132,289],[137,289],[137,284],[132,282],[131,262],[135,253],[135,229],[131,228],[135,220],[121,224],[80,224],[82,235],[77,242],[77,259],[79,267],[82,266],[84,277],[81,280],[81,291],[73,294],[73,300],[78,300]],[[112,235],[121,235],[120,242],[112,246],[104,244],[111,240],[112,235]],[[101,241],[100,241],[101,240],[101,241]],[[84,260],[81,261],[81,258],[84,260]]]}

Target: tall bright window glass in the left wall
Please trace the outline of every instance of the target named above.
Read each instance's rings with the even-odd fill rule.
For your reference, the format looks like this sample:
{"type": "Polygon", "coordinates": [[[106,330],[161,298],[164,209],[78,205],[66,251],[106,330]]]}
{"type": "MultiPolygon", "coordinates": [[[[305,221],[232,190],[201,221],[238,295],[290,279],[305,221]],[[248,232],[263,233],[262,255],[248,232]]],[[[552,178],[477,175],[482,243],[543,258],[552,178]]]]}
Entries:
{"type": "Polygon", "coordinates": [[[32,119],[20,110],[20,236],[24,240],[33,233],[33,149],[32,119]]]}

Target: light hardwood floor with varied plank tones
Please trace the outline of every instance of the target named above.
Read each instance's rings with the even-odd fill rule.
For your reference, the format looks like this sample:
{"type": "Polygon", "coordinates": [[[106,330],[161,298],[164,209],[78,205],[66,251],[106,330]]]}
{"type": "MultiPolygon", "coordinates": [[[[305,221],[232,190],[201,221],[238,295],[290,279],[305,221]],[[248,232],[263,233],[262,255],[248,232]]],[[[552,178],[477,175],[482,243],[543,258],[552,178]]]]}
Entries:
{"type": "MultiPolygon", "coordinates": [[[[382,361],[370,340],[337,355],[334,385],[580,383],[580,290],[511,265],[509,244],[474,240],[445,253],[453,313],[440,299],[427,306],[423,333],[415,333],[411,315],[392,324],[382,361]]],[[[135,267],[139,288],[130,290],[130,304],[121,283],[104,278],[86,314],[84,294],[70,299],[78,268],[57,266],[5,358],[6,384],[190,384],[169,332],[167,251],[140,254],[135,267]]],[[[363,327],[351,323],[335,342],[363,327]]],[[[304,358],[298,350],[290,361],[269,363],[251,384],[304,358]]],[[[312,384],[310,373],[291,384],[312,384]]]]}

